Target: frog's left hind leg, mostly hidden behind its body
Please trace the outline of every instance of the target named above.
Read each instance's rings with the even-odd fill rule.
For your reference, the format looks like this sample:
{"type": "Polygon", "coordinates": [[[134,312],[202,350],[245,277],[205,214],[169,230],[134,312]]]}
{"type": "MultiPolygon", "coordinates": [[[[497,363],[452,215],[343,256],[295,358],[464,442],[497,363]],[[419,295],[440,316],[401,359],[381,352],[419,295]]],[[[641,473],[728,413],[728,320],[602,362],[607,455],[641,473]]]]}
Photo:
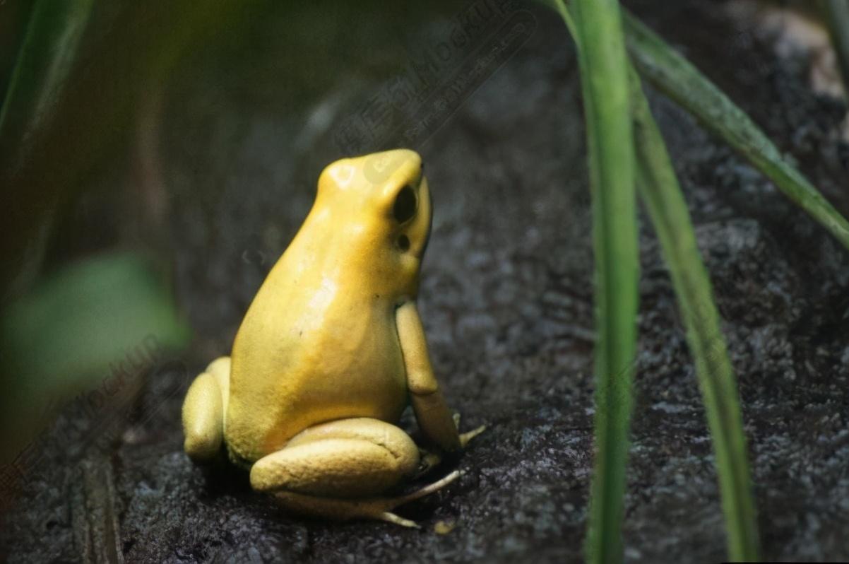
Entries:
{"type": "Polygon", "coordinates": [[[188,387],[183,402],[183,449],[197,463],[218,460],[230,392],[230,358],[216,358],[188,387]]]}

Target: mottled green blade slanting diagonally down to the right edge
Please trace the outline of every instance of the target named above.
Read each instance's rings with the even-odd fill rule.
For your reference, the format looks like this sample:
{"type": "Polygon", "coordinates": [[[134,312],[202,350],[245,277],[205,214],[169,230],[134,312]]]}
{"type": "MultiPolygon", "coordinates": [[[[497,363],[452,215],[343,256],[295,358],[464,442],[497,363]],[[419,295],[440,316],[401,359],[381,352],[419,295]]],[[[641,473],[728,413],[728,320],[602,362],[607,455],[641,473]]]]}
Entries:
{"type": "Polygon", "coordinates": [[[749,116],[661,37],[630,14],[624,14],[623,20],[628,51],[640,75],[734,147],[849,249],[846,218],[784,160],[779,149],[749,116]]]}

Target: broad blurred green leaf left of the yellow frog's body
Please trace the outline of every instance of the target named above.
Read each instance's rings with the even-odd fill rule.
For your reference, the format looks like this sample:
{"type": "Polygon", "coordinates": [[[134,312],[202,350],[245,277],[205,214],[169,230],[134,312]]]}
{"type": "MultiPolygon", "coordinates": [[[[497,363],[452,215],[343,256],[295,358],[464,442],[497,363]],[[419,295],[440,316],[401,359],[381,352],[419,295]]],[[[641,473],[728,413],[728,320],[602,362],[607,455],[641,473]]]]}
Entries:
{"type": "Polygon", "coordinates": [[[138,347],[164,354],[188,337],[164,279],[140,257],[96,257],[64,268],[0,318],[3,420],[13,424],[3,432],[18,430],[3,446],[20,446],[46,409],[104,381],[112,364],[138,347]]]}

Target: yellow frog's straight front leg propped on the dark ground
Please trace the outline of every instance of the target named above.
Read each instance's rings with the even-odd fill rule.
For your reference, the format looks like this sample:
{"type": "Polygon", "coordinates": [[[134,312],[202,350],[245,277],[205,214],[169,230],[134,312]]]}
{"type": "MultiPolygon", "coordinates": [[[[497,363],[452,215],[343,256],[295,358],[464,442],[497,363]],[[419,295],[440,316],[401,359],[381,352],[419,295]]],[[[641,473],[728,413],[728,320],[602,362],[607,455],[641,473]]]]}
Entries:
{"type": "MultiPolygon", "coordinates": [[[[398,338],[407,370],[407,386],[410,403],[424,437],[442,451],[451,452],[463,448],[471,439],[480,435],[485,426],[460,434],[459,417],[452,415],[439,389],[439,381],[430,366],[430,355],[424,328],[415,302],[406,302],[396,310],[398,338]]],[[[428,453],[425,465],[436,465],[438,453],[428,453]]],[[[427,469],[425,469],[426,471],[427,469]]]]}

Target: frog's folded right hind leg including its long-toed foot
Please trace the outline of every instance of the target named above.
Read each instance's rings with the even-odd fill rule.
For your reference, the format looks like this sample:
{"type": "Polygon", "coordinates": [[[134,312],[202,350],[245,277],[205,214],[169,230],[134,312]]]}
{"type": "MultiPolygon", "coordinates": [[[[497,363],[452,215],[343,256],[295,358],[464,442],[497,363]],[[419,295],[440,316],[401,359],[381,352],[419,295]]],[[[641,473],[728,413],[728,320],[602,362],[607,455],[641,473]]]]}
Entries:
{"type": "Polygon", "coordinates": [[[409,495],[380,494],[412,476],[419,448],[407,433],[368,418],[336,420],[310,427],[250,470],[254,489],[270,492],[291,510],[346,520],[371,518],[406,527],[415,523],[391,510],[453,482],[449,474],[409,495]]]}

